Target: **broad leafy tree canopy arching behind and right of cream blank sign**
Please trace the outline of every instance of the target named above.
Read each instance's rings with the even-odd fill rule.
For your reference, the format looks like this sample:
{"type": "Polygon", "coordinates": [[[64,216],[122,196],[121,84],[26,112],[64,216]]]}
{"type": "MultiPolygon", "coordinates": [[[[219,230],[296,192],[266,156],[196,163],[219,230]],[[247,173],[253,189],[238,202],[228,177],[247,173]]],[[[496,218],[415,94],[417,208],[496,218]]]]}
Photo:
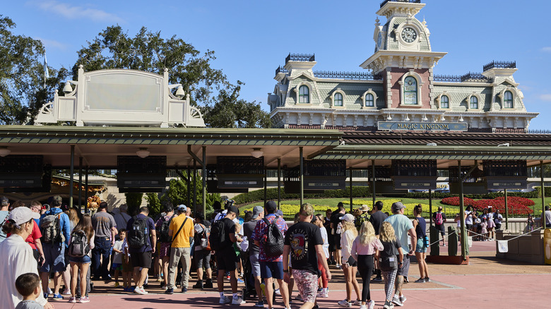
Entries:
{"type": "Polygon", "coordinates": [[[169,82],[182,84],[190,94],[191,103],[199,106],[208,126],[217,128],[269,128],[268,114],[256,102],[239,99],[237,85],[228,82],[221,70],[211,67],[214,52],[201,54],[193,45],[175,35],[165,39],[160,32],[142,27],[135,37],[121,26],[103,30],[88,46],[78,52],[73,66],[73,79],[78,78],[78,66],[85,71],[126,68],[162,74],[170,70],[169,82]],[[218,92],[218,93],[216,93],[218,92]]]}

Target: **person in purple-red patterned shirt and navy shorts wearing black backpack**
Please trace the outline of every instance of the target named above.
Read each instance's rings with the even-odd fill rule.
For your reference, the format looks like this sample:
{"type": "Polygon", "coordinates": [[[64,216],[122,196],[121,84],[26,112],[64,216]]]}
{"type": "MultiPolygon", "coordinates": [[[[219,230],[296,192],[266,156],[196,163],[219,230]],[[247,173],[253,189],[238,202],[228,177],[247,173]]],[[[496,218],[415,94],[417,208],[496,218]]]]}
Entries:
{"type": "Polygon", "coordinates": [[[275,216],[276,210],[278,210],[278,205],[273,200],[266,202],[264,205],[266,217],[256,224],[252,240],[260,248],[260,273],[266,284],[268,308],[273,308],[274,278],[278,280],[285,308],[290,308],[287,283],[283,281],[283,239],[288,227],[283,218],[275,216]]]}

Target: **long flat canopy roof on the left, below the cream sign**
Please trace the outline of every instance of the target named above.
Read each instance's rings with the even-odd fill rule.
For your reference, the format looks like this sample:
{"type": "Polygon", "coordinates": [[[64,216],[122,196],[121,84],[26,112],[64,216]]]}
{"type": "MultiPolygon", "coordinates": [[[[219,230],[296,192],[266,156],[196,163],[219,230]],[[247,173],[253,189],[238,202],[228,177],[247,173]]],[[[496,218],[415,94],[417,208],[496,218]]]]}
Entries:
{"type": "MultiPolygon", "coordinates": [[[[114,168],[117,155],[136,155],[147,147],[150,155],[167,156],[167,166],[193,164],[188,145],[199,158],[206,146],[207,164],[218,156],[250,156],[261,148],[268,167],[299,164],[299,147],[304,157],[312,157],[339,145],[336,130],[232,129],[232,128],[119,128],[75,126],[0,126],[0,146],[11,154],[42,154],[45,163],[67,167],[71,145],[75,162],[83,157],[90,168],[114,168]]],[[[78,165],[78,163],[76,163],[78,165]]]]}

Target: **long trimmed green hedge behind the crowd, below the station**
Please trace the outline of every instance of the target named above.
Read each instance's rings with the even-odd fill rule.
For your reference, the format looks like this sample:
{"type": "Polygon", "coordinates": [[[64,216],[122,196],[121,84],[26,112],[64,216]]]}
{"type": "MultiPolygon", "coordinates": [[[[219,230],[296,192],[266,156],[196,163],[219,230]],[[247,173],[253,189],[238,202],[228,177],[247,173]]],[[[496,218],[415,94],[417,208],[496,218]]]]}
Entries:
{"type": "MultiPolygon", "coordinates": [[[[362,198],[369,196],[369,187],[352,186],[352,197],[362,198]]],[[[325,190],[323,193],[305,193],[304,198],[349,198],[350,187],[346,187],[344,190],[325,190]]],[[[266,190],[266,198],[268,200],[278,199],[278,189],[270,188],[266,190]]],[[[285,190],[281,188],[281,198],[285,200],[298,199],[300,194],[297,193],[285,193],[285,190]]],[[[264,189],[254,190],[249,193],[242,193],[236,195],[234,200],[236,204],[244,204],[247,202],[256,202],[264,199],[264,189]]]]}

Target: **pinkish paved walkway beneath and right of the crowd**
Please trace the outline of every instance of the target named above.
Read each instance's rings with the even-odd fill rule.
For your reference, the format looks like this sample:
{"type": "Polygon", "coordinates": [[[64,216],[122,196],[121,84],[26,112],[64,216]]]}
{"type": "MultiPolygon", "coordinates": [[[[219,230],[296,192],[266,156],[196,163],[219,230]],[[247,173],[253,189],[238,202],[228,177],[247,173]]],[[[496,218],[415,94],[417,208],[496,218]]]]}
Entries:
{"type": "MultiPolygon", "coordinates": [[[[441,248],[445,249],[445,248],[441,248]]],[[[331,269],[333,280],[329,283],[329,298],[319,299],[320,308],[341,308],[337,301],[345,298],[343,273],[331,269]]],[[[470,265],[429,264],[432,282],[414,283],[419,277],[417,264],[410,267],[410,283],[404,285],[407,297],[404,308],[550,308],[548,283],[551,281],[551,265],[531,265],[495,258],[493,241],[474,242],[470,248],[470,265]]],[[[361,279],[358,279],[361,288],[361,279]]],[[[190,281],[193,285],[195,281],[190,281]]],[[[219,305],[216,289],[188,293],[174,293],[167,296],[158,282],[150,281],[150,294],[140,296],[123,293],[113,288],[113,283],[95,281],[97,289],[90,294],[90,303],[71,304],[66,301],[54,303],[55,308],[237,308],[237,305],[219,305]]],[[[229,286],[229,283],[226,284],[229,286]]],[[[384,285],[371,284],[371,295],[375,308],[384,304],[384,285]]],[[[361,293],[361,291],[360,291],[361,293]]],[[[297,291],[293,292],[293,298],[297,291]]],[[[355,299],[355,296],[352,296],[355,299]]],[[[292,301],[292,308],[299,308],[302,302],[292,301]]],[[[254,301],[241,305],[255,308],[254,301]]],[[[352,306],[358,308],[359,306],[352,306]]],[[[280,298],[275,308],[283,308],[280,298]]]]}

